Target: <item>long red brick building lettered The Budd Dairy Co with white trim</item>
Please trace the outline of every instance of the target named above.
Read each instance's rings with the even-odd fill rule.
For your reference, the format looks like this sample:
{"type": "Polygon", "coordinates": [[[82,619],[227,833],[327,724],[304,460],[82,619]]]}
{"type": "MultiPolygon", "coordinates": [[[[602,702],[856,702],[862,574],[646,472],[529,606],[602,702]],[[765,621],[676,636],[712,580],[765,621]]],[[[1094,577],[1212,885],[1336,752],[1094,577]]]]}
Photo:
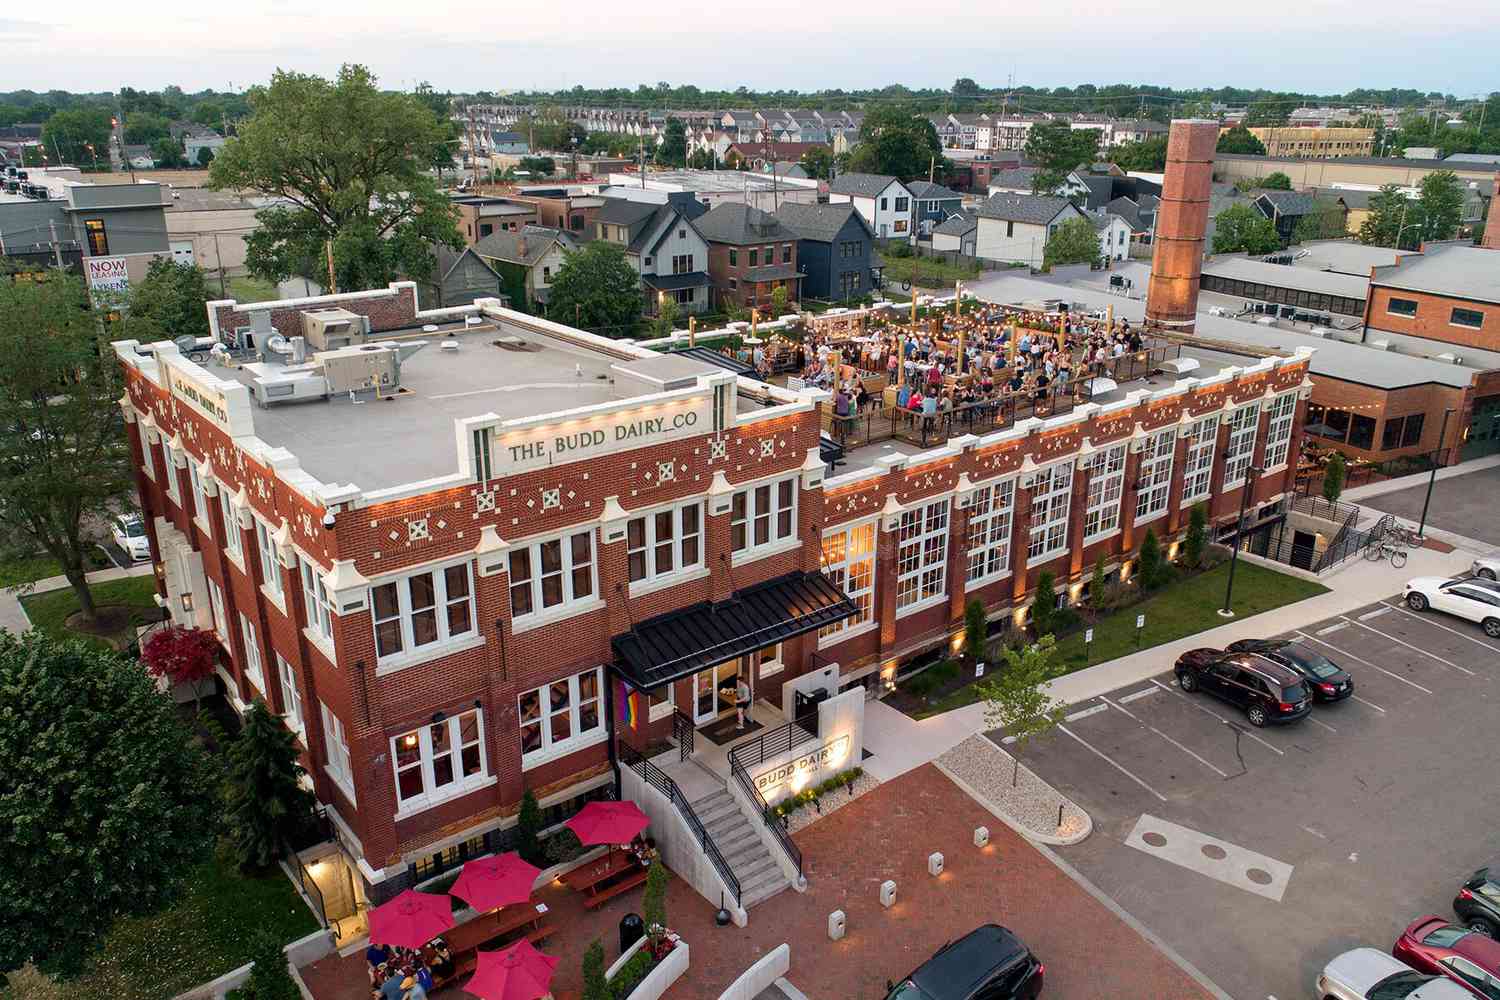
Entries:
{"type": "Polygon", "coordinates": [[[297,732],[376,903],[501,849],[526,790],[549,822],[609,793],[621,744],[722,721],[740,679],[786,714],[878,690],[970,598],[1022,616],[1041,570],[1077,600],[1198,502],[1274,510],[1308,391],[1306,352],[1197,351],[830,478],[825,394],[494,301],[418,312],[396,283],[210,318],[264,360],[116,345],[162,601],[218,634],[236,709],[297,732]]]}

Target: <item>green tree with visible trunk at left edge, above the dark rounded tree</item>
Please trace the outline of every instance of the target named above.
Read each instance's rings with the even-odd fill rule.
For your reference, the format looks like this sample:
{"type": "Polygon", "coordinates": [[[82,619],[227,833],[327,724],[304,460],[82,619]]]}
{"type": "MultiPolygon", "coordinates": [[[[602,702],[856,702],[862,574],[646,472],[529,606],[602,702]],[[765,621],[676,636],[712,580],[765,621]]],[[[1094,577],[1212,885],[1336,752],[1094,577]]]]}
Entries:
{"type": "Polygon", "coordinates": [[[0,282],[0,543],[57,559],[84,616],[88,525],[106,522],[135,492],[120,432],[120,373],[108,339],[156,340],[126,315],[106,333],[82,282],[54,274],[0,282]]]}

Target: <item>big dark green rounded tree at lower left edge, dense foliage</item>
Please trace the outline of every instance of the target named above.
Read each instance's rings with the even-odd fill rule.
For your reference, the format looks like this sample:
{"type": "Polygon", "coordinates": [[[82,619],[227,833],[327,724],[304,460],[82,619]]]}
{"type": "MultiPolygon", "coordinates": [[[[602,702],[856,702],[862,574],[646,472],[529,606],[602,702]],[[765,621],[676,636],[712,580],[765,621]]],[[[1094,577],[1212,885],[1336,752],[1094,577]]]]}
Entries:
{"type": "Polygon", "coordinates": [[[75,967],[114,919],[168,903],[212,844],[202,754],[117,654],[0,633],[0,969],[75,967]]]}

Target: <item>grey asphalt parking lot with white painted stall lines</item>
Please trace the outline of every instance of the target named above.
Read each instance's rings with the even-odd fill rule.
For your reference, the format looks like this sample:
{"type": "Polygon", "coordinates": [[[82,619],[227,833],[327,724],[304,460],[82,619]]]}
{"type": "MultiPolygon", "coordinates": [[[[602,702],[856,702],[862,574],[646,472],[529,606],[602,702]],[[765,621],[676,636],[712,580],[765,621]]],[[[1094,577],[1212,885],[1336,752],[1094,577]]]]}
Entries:
{"type": "Polygon", "coordinates": [[[1346,667],[1354,697],[1252,729],[1164,661],[1020,754],[1094,817],[1060,853],[1239,1000],[1310,996],[1335,954],[1450,918],[1500,856],[1500,642],[1398,595],[1284,636],[1346,667]]]}

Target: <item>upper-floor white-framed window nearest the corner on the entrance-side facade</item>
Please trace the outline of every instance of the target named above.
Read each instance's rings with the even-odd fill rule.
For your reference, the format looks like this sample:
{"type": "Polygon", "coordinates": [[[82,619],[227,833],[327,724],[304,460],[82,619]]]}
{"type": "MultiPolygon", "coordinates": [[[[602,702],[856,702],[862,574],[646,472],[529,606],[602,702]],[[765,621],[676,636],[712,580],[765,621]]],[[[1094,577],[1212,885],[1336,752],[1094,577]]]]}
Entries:
{"type": "Polygon", "coordinates": [[[370,618],[380,658],[474,634],[468,561],[374,585],[370,618]]]}

